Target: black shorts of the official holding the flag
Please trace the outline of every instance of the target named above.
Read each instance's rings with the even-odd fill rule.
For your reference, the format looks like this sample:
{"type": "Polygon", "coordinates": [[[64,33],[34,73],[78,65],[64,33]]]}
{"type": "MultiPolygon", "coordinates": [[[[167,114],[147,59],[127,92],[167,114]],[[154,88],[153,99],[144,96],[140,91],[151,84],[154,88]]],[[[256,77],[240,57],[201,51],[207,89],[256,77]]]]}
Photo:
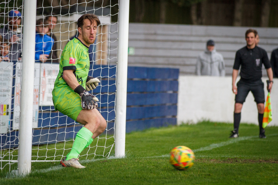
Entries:
{"type": "Polygon", "coordinates": [[[243,80],[239,80],[237,83],[238,94],[235,96],[235,102],[241,103],[245,102],[245,99],[249,93],[252,92],[255,102],[264,103],[264,90],[263,90],[263,82],[262,80],[254,81],[254,82],[246,82],[243,80]]]}

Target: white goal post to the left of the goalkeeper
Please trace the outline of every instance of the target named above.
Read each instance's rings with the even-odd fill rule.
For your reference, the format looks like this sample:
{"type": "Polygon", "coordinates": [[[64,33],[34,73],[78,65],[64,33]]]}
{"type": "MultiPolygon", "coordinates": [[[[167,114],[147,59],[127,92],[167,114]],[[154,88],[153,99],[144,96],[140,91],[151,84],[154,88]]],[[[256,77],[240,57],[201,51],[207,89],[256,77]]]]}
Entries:
{"type": "Polygon", "coordinates": [[[18,173],[28,174],[31,171],[32,160],[32,123],[33,122],[33,97],[34,97],[34,61],[36,32],[36,0],[24,1],[23,33],[26,41],[23,41],[22,51],[22,77],[20,100],[20,125],[19,125],[19,155],[18,173]],[[28,57],[26,57],[28,56],[28,57]]]}

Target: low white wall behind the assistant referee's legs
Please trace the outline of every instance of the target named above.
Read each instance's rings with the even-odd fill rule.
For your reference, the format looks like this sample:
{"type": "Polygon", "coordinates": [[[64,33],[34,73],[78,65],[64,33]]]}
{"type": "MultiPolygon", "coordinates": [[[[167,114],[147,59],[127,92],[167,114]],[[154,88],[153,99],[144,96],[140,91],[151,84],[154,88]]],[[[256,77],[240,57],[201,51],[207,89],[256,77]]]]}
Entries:
{"type": "MultiPolygon", "coordinates": [[[[239,80],[239,78],[238,78],[239,80]]],[[[265,100],[267,97],[266,80],[265,100]]],[[[272,121],[269,125],[278,126],[278,79],[274,79],[271,92],[272,121]]],[[[202,119],[211,121],[234,122],[234,97],[232,77],[179,76],[178,124],[202,119]]],[[[258,124],[258,110],[249,92],[241,113],[241,123],[258,124]]]]}

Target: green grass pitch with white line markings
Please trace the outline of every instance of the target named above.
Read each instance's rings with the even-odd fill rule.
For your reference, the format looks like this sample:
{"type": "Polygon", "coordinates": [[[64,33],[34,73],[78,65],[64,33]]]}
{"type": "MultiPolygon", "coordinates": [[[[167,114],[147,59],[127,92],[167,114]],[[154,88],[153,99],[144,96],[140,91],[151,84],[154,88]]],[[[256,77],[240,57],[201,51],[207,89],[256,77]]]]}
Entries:
{"type": "Polygon", "coordinates": [[[257,125],[241,124],[239,138],[230,139],[232,129],[232,124],[202,121],[132,132],[126,134],[125,158],[83,159],[85,169],[32,162],[32,172],[24,178],[9,176],[4,169],[0,184],[278,184],[278,127],[267,127],[266,139],[259,138],[257,125]],[[196,155],[187,171],[175,170],[169,163],[170,150],[179,145],[196,155]]]}

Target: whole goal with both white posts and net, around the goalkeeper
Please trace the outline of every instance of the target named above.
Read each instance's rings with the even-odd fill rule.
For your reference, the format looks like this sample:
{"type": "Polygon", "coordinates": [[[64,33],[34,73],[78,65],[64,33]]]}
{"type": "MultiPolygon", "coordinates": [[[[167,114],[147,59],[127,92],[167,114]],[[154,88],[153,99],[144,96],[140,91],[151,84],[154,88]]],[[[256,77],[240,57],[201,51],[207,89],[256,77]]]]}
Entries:
{"type": "MultiPolygon", "coordinates": [[[[34,62],[38,44],[34,34],[36,21],[47,18],[46,10],[50,10],[52,15],[55,9],[62,10],[64,5],[60,3],[59,6],[54,6],[52,3],[51,6],[44,7],[43,4],[43,13],[38,14],[37,2],[39,1],[24,0],[20,7],[7,5],[4,12],[0,11],[5,21],[9,19],[8,13],[11,10],[20,10],[23,19],[22,60],[12,61],[9,65],[3,61],[0,65],[0,78],[12,84],[7,86],[10,89],[7,91],[8,102],[3,103],[3,95],[0,95],[0,106],[4,107],[1,107],[0,123],[5,122],[5,125],[0,126],[0,170],[15,170],[19,175],[31,172],[31,162],[60,161],[69,152],[78,130],[82,127],[53,108],[50,96],[59,65],[55,64],[53,59],[46,63],[34,62]],[[8,78],[5,78],[8,74],[7,68],[10,72],[8,78]]],[[[93,74],[101,81],[96,91],[91,93],[99,98],[98,109],[107,121],[106,131],[95,138],[92,143],[94,145],[89,146],[79,157],[109,157],[115,151],[113,155],[121,158],[125,156],[129,0],[113,1],[116,4],[112,4],[112,0],[110,3],[109,0],[76,2],[67,6],[68,13],[61,11],[61,14],[53,14],[57,16],[59,27],[52,30],[51,34],[59,35],[54,42],[58,43],[57,53],[58,57],[61,57],[65,43],[77,33],[77,19],[85,13],[96,12],[99,16],[101,24],[91,51],[93,59],[90,61],[89,75],[93,74]],[[93,6],[89,6],[89,3],[93,3],[93,6]],[[96,7],[95,3],[101,4],[101,7],[96,7]],[[88,10],[88,7],[91,9],[88,10]],[[115,7],[117,12],[112,13],[112,8],[115,7]],[[74,8],[75,10],[72,10],[74,8]],[[112,16],[117,16],[117,21],[114,19],[112,22],[112,16]],[[65,32],[68,36],[64,36],[65,32]]],[[[0,23],[1,28],[5,24],[0,23]]],[[[0,40],[1,42],[4,42],[4,39],[0,40]]]]}

